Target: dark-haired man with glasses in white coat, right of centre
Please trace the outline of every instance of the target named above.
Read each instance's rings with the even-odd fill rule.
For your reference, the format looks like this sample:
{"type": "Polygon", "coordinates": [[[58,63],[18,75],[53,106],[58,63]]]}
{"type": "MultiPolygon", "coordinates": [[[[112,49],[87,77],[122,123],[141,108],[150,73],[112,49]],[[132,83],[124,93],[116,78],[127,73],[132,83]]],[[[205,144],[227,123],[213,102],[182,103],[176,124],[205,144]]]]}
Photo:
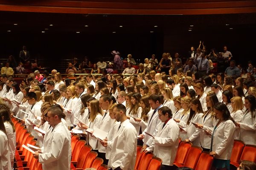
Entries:
{"type": "Polygon", "coordinates": [[[161,170],[170,170],[179,146],[180,128],[172,119],[171,109],[166,106],[158,110],[157,116],[163,122],[163,126],[158,129],[157,135],[145,152],[153,151],[154,156],[163,160],[161,170]]]}

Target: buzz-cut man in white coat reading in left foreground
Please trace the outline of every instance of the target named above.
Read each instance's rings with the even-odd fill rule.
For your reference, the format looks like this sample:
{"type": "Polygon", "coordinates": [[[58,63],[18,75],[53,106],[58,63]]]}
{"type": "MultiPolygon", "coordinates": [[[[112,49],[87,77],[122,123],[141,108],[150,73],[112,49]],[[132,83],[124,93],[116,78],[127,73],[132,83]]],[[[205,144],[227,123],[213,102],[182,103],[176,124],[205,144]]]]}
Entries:
{"type": "Polygon", "coordinates": [[[47,121],[52,126],[44,136],[44,149],[33,155],[43,165],[43,170],[70,170],[71,134],[61,122],[63,111],[53,105],[47,112],[47,121]]]}

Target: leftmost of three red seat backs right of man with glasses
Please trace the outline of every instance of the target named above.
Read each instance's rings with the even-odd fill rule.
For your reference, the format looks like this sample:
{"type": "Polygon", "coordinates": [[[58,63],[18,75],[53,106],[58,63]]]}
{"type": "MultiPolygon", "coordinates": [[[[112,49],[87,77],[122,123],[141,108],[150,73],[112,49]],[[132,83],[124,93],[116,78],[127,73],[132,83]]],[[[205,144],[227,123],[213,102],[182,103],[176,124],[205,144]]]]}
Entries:
{"type": "Polygon", "coordinates": [[[190,142],[186,143],[184,141],[181,141],[180,145],[178,147],[177,155],[175,157],[174,162],[177,162],[177,163],[183,165],[186,160],[186,156],[189,152],[191,145],[192,145],[192,143],[190,143],[190,142]]]}

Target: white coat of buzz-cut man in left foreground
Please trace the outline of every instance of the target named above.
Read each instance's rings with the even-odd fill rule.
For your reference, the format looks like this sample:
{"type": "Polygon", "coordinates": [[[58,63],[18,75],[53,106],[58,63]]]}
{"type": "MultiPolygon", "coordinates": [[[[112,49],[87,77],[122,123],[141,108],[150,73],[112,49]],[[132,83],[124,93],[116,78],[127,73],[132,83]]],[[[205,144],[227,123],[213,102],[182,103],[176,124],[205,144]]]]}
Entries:
{"type": "Polygon", "coordinates": [[[43,170],[70,170],[71,134],[63,122],[51,131],[52,128],[45,135],[44,151],[38,160],[43,164],[43,170]]]}

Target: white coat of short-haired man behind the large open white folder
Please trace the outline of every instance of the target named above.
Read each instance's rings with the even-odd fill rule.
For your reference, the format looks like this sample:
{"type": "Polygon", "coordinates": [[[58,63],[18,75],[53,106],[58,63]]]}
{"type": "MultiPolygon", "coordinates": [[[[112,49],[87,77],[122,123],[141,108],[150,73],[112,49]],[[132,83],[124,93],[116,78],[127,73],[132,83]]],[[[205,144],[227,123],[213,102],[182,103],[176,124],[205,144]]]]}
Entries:
{"type": "MultiPolygon", "coordinates": [[[[115,120],[111,119],[111,117],[109,116],[109,110],[107,110],[106,113],[107,113],[106,116],[104,118],[102,118],[102,121],[99,123],[98,128],[105,131],[105,132],[109,132],[109,130],[110,130],[110,128],[113,125],[115,120]]],[[[104,114],[103,114],[103,116],[104,116],[104,114]]],[[[98,150],[101,153],[106,153],[106,147],[102,146],[102,144],[99,141],[98,141],[98,150]]]]}

